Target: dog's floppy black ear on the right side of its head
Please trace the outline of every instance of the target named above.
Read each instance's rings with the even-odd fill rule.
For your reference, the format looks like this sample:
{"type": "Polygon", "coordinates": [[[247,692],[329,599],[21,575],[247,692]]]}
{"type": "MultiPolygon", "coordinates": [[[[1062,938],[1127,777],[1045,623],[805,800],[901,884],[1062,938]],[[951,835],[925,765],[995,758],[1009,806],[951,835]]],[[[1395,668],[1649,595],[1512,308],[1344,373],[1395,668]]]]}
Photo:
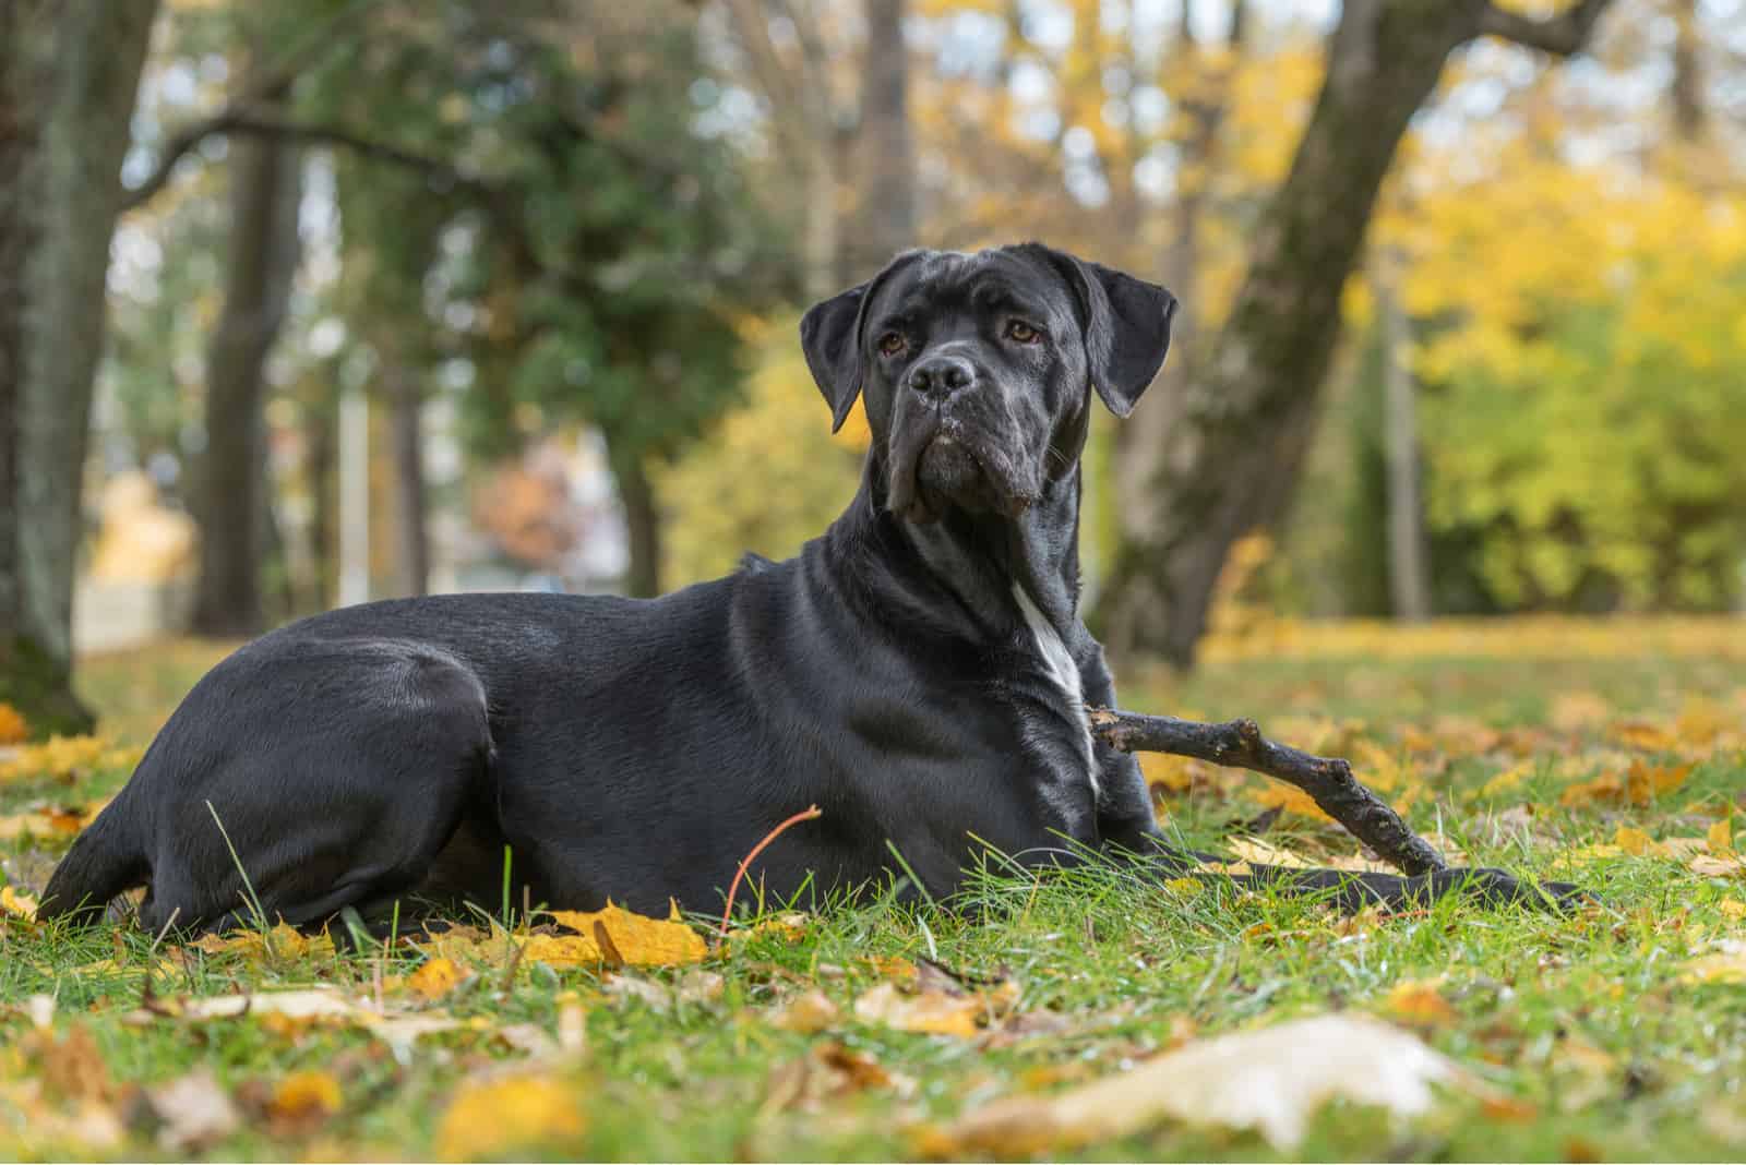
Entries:
{"type": "Polygon", "coordinates": [[[1086,363],[1091,387],[1109,412],[1126,417],[1140,401],[1170,351],[1177,296],[1102,263],[1039,248],[1079,293],[1086,317],[1086,363]]]}

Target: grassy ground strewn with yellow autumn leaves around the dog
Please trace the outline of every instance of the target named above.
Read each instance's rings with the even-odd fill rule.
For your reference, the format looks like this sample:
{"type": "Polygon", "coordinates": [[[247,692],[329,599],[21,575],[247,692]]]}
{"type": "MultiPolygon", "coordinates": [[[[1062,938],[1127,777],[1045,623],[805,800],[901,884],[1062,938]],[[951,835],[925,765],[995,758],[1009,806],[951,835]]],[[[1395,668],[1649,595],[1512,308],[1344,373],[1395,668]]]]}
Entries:
{"type": "MultiPolygon", "coordinates": [[[[971,916],[882,900],[766,924],[672,970],[574,964],[566,950],[585,938],[529,940],[520,919],[520,935],[468,919],[440,949],[335,950],[283,933],[176,947],[10,917],[0,1156],[939,1155],[964,1149],[950,1135],[960,1114],[1000,1097],[1041,1100],[1201,1036],[1344,1012],[1416,1032],[1484,1093],[1440,1093],[1413,1120],[1336,1102],[1296,1153],[1177,1120],[993,1148],[1739,1160],[1746,977],[1729,966],[1746,945],[1729,944],[1746,942],[1746,874],[1727,834],[1746,834],[1746,626],[1269,637],[1215,645],[1191,682],[1135,677],[1124,703],[1257,715],[1275,736],[1353,755],[1442,844],[1573,877],[1601,905],[1343,921],[1303,900],[1081,870],[988,879],[995,909],[971,916]],[[340,1005],[316,1019],[260,999],[241,1017],[192,1015],[211,996],[307,987],[340,1005]],[[430,1034],[414,1038],[407,1017],[430,1034]]],[[[87,694],[113,739],[0,766],[14,902],[211,659],[175,647],[91,661],[87,694]]],[[[1355,856],[1259,778],[1186,762],[1149,774],[1161,816],[1194,842],[1259,830],[1306,860],[1355,856]]],[[[1296,1073],[1323,1052],[1301,1048],[1296,1073]]]]}

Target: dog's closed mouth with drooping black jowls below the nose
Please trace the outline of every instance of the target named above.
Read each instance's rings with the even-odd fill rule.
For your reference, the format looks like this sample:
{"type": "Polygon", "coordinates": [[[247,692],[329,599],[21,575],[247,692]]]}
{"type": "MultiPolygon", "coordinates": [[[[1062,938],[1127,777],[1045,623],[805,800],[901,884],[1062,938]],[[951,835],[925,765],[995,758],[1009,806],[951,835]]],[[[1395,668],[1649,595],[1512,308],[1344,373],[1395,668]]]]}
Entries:
{"type": "Polygon", "coordinates": [[[1016,518],[1035,501],[1006,457],[952,420],[913,426],[892,441],[887,508],[917,523],[953,506],[1016,518]]]}

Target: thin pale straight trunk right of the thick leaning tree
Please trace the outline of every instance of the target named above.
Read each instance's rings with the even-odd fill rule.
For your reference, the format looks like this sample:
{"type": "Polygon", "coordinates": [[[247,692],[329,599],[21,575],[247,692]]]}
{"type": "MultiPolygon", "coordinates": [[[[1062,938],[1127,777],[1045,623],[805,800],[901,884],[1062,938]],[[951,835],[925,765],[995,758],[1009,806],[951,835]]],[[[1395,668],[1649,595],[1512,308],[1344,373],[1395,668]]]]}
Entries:
{"type": "Polygon", "coordinates": [[[1407,366],[1407,317],[1400,309],[1400,258],[1378,262],[1376,316],[1383,330],[1383,439],[1388,453],[1388,595],[1395,617],[1430,617],[1430,565],[1419,504],[1418,384],[1407,366]]]}

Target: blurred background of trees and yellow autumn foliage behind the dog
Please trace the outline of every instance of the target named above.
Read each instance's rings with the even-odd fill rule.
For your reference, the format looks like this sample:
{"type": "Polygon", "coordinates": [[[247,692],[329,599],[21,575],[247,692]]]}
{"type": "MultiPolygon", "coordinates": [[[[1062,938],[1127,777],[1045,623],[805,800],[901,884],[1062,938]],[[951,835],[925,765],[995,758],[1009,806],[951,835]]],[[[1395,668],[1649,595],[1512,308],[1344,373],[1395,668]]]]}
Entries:
{"type": "Polygon", "coordinates": [[[1746,0],[0,0],[0,701],[789,555],[800,312],[1032,237],[1186,305],[1086,457],[1123,668],[1737,612],[1743,164],[1746,0]]]}

